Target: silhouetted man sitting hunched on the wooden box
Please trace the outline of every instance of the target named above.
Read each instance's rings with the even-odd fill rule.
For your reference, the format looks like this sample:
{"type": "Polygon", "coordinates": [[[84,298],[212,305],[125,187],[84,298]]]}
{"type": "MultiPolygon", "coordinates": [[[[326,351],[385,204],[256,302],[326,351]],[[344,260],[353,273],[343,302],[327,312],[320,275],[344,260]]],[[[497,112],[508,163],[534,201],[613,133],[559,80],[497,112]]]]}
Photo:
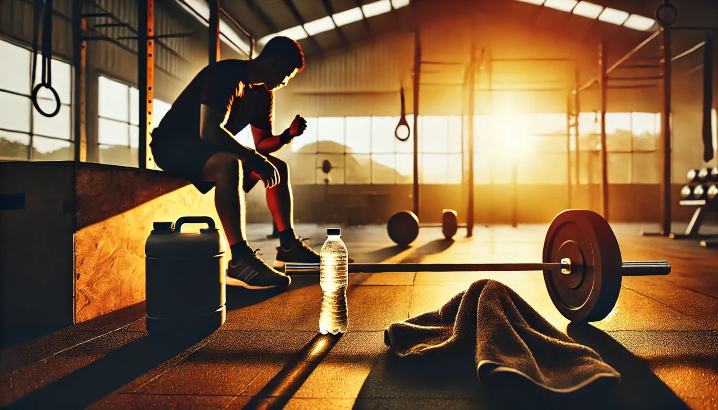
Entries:
{"type": "Polygon", "coordinates": [[[307,128],[297,115],[288,129],[272,134],[274,91],[302,69],[304,54],[297,42],[274,37],[255,60],[223,60],[205,67],[152,133],[150,146],[159,167],[187,178],[202,193],[215,187],[215,206],[232,254],[227,284],[268,289],[290,282],[247,243],[244,195],[259,180],[279,229],[276,266],[320,261],[294,233],[289,168],[271,156],[307,128]],[[248,125],[256,150],[233,138],[248,125]]]}

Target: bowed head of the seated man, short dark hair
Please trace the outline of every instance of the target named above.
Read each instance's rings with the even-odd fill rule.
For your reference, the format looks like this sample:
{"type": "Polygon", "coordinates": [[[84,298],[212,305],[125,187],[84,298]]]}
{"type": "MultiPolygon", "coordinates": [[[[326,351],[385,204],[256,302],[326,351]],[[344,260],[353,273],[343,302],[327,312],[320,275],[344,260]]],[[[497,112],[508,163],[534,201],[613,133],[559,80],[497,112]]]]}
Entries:
{"type": "Polygon", "coordinates": [[[274,37],[256,58],[256,79],[267,90],[279,90],[304,70],[302,47],[289,37],[274,37]]]}

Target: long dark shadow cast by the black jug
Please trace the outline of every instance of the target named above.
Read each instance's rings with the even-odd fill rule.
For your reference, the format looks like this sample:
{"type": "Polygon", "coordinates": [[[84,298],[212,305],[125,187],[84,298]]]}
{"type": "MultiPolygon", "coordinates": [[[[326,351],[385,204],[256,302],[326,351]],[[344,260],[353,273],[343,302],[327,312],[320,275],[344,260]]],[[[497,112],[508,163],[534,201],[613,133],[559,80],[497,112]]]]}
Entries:
{"type": "Polygon", "coordinates": [[[85,409],[118,388],[199,343],[145,336],[6,406],[5,409],[85,409]]]}

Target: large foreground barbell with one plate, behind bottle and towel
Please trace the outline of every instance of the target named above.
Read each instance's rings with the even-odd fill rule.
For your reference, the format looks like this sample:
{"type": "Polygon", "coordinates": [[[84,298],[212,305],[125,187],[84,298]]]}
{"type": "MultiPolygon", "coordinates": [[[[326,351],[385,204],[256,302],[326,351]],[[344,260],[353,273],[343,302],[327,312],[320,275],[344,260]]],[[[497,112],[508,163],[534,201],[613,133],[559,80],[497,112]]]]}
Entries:
{"type": "MultiPolygon", "coordinates": [[[[320,264],[286,264],[292,276],[316,276],[320,264]]],[[[444,271],[544,271],[551,302],[573,322],[596,322],[615,307],[623,276],[671,273],[668,261],[623,261],[610,225],[591,210],[565,210],[551,222],[543,262],[528,264],[349,264],[350,274],[444,271]]]]}

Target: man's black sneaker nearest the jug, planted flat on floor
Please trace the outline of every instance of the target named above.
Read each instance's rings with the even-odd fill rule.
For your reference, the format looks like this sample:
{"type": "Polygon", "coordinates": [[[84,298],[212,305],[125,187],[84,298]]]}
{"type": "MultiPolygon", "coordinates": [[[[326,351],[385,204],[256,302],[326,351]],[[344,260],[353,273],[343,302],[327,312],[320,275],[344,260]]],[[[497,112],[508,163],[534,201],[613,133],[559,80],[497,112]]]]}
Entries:
{"type": "Polygon", "coordinates": [[[227,284],[229,286],[243,286],[247,289],[271,289],[292,283],[292,278],[267,266],[257,256],[258,251],[259,249],[253,251],[251,255],[245,256],[237,264],[230,261],[227,269],[227,284]]]}

